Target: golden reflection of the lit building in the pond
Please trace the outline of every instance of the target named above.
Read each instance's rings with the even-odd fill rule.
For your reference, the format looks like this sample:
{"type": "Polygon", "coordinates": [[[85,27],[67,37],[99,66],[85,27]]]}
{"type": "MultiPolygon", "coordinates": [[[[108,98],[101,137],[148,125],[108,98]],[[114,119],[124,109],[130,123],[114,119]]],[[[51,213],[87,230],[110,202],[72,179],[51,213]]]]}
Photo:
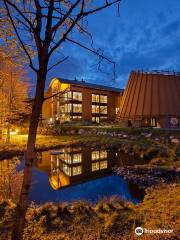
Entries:
{"type": "Polygon", "coordinates": [[[59,154],[43,152],[38,168],[46,171],[53,189],[87,181],[110,173],[115,153],[88,148],[64,148],[59,154]]]}

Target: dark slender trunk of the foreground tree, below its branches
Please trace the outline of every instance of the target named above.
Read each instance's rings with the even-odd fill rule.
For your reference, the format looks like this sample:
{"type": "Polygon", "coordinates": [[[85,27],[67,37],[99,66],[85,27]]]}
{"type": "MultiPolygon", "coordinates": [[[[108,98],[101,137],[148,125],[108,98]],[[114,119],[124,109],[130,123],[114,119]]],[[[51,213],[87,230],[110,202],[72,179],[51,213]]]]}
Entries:
{"type": "Polygon", "coordinates": [[[13,226],[12,240],[22,239],[25,226],[25,215],[28,208],[28,196],[31,187],[32,167],[35,160],[36,134],[44,100],[44,88],[47,75],[47,67],[40,69],[37,73],[36,95],[33,103],[32,114],[29,126],[27,151],[25,154],[24,177],[21,188],[20,199],[15,213],[15,223],[13,226]]]}

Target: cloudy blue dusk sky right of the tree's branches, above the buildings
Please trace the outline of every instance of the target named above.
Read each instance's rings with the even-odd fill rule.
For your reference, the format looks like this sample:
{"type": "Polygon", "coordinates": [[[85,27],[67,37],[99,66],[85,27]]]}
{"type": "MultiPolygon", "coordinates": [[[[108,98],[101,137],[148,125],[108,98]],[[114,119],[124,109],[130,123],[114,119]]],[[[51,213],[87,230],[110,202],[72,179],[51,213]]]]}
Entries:
{"type": "MultiPolygon", "coordinates": [[[[69,59],[48,74],[46,86],[52,77],[76,77],[124,88],[131,70],[180,70],[179,0],[123,0],[119,17],[117,8],[111,7],[88,20],[94,47],[116,62],[116,81],[112,81],[112,65],[103,65],[109,76],[98,72],[92,67],[97,63],[93,54],[68,43],[59,52],[69,59]]],[[[89,46],[90,42],[84,43],[89,46]]],[[[53,61],[58,58],[57,54],[53,61]]]]}

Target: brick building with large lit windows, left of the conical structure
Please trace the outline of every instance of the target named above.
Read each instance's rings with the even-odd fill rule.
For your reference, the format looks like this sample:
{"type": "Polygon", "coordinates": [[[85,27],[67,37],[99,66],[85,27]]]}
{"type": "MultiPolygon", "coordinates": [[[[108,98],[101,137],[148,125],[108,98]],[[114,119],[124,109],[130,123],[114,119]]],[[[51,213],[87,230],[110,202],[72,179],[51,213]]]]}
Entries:
{"type": "Polygon", "coordinates": [[[87,83],[84,80],[54,78],[45,93],[42,119],[48,122],[114,121],[122,89],[87,83]]]}

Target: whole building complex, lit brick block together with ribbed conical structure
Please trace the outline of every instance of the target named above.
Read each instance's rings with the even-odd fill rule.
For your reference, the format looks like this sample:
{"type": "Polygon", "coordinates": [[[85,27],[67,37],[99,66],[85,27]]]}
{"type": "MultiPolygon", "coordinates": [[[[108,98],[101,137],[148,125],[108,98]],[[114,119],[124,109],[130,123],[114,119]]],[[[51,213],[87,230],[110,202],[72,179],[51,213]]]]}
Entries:
{"type": "Polygon", "coordinates": [[[42,118],[52,123],[117,121],[124,127],[180,128],[180,74],[175,72],[132,71],[124,91],[55,78],[45,97],[42,118]]]}

